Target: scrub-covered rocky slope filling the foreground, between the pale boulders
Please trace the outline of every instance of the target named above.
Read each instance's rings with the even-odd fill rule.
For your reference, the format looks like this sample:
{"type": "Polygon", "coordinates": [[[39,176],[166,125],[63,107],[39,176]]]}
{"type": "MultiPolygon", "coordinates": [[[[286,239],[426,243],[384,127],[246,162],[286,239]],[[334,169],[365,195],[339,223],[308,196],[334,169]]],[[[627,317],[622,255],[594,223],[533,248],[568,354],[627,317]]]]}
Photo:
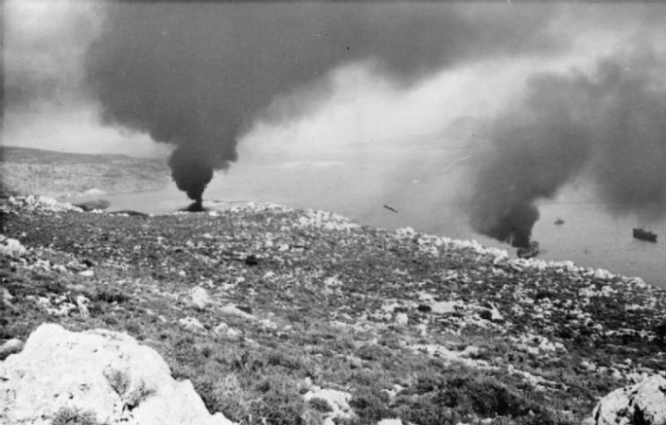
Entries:
{"type": "Polygon", "coordinates": [[[666,376],[666,291],[603,270],[277,205],[2,218],[0,339],[125,332],[242,424],[594,423],[666,376]]]}

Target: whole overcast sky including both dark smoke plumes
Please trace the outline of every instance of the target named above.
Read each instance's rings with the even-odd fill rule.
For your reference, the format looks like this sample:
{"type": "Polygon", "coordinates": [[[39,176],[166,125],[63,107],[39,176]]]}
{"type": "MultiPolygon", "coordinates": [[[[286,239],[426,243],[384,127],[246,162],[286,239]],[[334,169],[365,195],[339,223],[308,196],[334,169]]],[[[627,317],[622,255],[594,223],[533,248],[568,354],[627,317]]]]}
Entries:
{"type": "Polygon", "coordinates": [[[663,22],[662,4],[8,0],[3,143],[163,157],[201,200],[235,163],[435,134],[462,143],[447,185],[472,228],[524,246],[536,203],[573,182],[663,219],[663,22]]]}

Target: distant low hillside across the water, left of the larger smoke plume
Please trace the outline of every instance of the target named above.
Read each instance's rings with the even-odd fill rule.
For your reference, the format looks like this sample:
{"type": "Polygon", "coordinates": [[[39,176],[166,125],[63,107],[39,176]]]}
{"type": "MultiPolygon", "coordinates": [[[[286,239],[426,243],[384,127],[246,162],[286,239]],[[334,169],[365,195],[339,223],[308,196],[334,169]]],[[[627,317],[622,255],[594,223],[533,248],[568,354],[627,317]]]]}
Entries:
{"type": "Polygon", "coordinates": [[[3,193],[102,195],[154,190],[169,183],[165,160],[0,146],[3,193]]]}

